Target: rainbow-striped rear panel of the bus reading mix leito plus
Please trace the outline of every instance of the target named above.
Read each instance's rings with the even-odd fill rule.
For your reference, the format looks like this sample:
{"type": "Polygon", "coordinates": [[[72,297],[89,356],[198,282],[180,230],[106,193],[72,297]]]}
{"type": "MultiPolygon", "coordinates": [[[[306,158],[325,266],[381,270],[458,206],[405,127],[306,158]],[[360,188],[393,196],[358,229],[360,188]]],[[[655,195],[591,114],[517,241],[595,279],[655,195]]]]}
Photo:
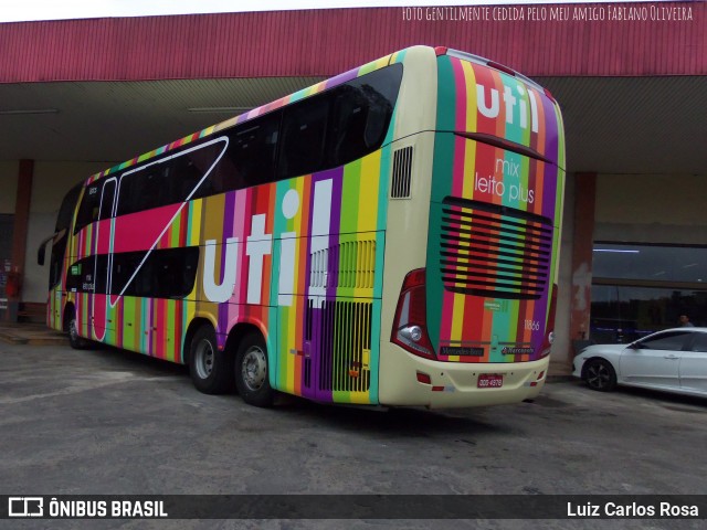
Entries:
{"type": "Polygon", "coordinates": [[[538,87],[476,62],[441,56],[437,65],[437,136],[428,248],[431,337],[441,360],[538,359],[556,275],[561,215],[564,145],[558,105],[538,87]],[[469,132],[476,139],[454,132],[469,132]],[[547,161],[524,156],[517,148],[504,149],[497,141],[477,141],[484,137],[525,146],[547,161]],[[456,206],[449,205],[451,198],[452,202],[458,199],[456,206]],[[474,211],[474,206],[481,211],[474,211]],[[474,215],[477,221],[469,221],[474,215]],[[462,241],[458,256],[464,257],[443,256],[447,261],[442,265],[441,254],[447,250],[444,243],[450,232],[463,234],[456,241],[462,241]],[[508,269],[520,268],[527,283],[534,282],[537,271],[520,257],[504,256],[506,262],[516,264],[484,264],[483,258],[471,263],[473,259],[467,258],[477,251],[492,255],[499,248],[518,252],[505,248],[518,245],[518,239],[525,240],[523,252],[535,256],[539,243],[530,234],[539,233],[545,234],[548,245],[544,251],[546,282],[540,293],[521,289],[520,280],[507,279],[513,274],[508,269]],[[516,241],[509,243],[510,239],[516,241]],[[452,272],[449,261],[456,261],[452,272]],[[487,292],[462,292],[461,286],[468,284],[469,277],[477,284],[486,282],[483,288],[487,292]],[[497,287],[508,284],[514,285],[516,296],[502,294],[497,287]],[[460,289],[455,292],[450,285],[460,289]],[[498,293],[495,296],[494,290],[498,293]]]}

